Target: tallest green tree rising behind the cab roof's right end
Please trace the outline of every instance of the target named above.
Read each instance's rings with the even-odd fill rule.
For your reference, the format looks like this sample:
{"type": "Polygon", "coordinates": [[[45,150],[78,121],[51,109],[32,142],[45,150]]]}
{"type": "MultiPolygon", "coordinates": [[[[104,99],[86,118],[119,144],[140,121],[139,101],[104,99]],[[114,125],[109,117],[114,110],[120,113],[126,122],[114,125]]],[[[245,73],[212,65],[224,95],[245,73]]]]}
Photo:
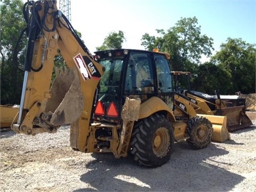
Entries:
{"type": "Polygon", "coordinates": [[[201,35],[201,26],[198,26],[196,17],[181,18],[166,33],[163,29],[157,29],[157,33],[161,36],[143,35],[141,45],[146,50],[158,47],[163,52],[169,52],[173,70],[195,71],[201,55],[210,57],[212,54],[213,39],[201,35]]]}

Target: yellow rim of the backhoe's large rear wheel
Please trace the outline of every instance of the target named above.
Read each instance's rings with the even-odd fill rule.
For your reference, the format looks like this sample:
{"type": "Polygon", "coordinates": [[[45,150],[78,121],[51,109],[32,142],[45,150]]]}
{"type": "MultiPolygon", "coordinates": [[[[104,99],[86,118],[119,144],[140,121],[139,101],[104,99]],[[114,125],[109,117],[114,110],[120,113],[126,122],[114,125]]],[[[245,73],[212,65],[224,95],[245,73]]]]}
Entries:
{"type": "Polygon", "coordinates": [[[168,130],[165,127],[159,128],[153,139],[153,151],[157,157],[164,156],[170,145],[170,135],[168,130]]]}

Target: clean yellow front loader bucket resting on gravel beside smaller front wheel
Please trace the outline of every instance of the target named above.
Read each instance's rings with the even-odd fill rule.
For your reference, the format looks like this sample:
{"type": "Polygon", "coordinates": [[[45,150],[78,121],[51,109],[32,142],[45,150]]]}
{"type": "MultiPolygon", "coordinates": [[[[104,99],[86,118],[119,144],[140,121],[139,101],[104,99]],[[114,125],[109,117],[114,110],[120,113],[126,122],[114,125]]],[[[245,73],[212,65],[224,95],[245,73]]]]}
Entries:
{"type": "Polygon", "coordinates": [[[213,127],[212,141],[223,142],[230,139],[230,134],[227,129],[227,117],[217,115],[199,115],[207,118],[213,127]]]}

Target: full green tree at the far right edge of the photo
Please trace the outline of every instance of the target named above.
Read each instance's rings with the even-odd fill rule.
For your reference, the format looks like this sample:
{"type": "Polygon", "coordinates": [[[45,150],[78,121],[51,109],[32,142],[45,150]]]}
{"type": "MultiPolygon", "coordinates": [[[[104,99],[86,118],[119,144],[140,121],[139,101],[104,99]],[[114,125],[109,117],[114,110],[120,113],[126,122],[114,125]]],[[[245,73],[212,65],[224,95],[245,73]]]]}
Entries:
{"type": "Polygon", "coordinates": [[[242,38],[227,38],[211,58],[231,77],[230,94],[255,92],[255,55],[255,44],[246,43],[242,38]]]}

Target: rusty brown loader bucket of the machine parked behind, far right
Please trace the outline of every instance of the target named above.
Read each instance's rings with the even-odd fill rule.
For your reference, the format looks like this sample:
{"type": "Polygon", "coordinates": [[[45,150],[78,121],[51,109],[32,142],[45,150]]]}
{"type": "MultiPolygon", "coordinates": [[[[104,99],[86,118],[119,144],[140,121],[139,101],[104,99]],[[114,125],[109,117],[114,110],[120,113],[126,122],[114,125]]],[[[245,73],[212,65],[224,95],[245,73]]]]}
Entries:
{"type": "Polygon", "coordinates": [[[245,114],[244,106],[221,108],[217,110],[216,115],[227,116],[227,128],[229,132],[253,125],[250,118],[245,114]]]}

